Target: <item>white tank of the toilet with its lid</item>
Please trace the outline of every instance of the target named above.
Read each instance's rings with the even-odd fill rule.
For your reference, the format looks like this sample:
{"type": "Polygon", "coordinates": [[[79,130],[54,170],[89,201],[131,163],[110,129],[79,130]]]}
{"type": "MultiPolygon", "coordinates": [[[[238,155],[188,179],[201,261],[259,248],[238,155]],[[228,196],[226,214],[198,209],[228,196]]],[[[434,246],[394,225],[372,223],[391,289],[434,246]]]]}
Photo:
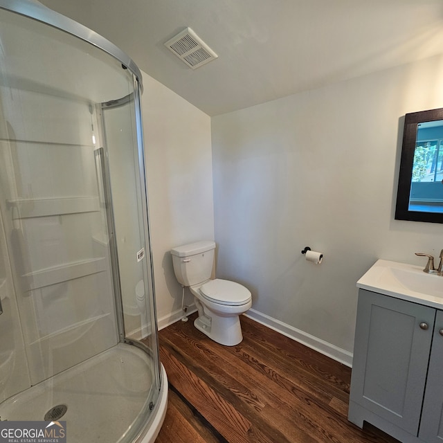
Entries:
{"type": "Polygon", "coordinates": [[[185,244],[171,249],[174,273],[180,284],[192,286],[210,278],[213,272],[215,242],[185,244]]]}

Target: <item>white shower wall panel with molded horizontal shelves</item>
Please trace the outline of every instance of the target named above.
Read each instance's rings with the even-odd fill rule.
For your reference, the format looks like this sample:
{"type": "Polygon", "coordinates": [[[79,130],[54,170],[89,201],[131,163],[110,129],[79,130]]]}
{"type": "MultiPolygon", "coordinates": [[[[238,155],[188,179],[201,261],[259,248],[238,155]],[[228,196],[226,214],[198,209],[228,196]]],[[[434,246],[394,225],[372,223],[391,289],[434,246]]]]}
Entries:
{"type": "Polygon", "coordinates": [[[0,88],[0,208],[35,384],[118,336],[96,108],[21,86],[29,90],[0,88]]]}

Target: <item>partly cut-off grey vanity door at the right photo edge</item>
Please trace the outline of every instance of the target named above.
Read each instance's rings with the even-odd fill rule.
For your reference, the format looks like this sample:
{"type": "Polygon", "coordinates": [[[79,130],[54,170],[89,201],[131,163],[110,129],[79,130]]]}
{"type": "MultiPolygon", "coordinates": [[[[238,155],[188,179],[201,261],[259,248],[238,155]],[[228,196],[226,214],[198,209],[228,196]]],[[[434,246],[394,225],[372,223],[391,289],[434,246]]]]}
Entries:
{"type": "Polygon", "coordinates": [[[419,437],[443,442],[443,311],[437,311],[419,437]]]}

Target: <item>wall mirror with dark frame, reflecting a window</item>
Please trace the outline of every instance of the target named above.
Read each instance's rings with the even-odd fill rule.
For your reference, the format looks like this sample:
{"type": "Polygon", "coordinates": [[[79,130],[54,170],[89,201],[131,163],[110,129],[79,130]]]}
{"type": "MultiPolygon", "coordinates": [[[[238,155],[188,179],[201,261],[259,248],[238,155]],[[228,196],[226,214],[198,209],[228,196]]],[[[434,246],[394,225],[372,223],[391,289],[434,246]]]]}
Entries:
{"type": "Polygon", "coordinates": [[[443,223],[443,108],[405,116],[395,218],[443,223]]]}

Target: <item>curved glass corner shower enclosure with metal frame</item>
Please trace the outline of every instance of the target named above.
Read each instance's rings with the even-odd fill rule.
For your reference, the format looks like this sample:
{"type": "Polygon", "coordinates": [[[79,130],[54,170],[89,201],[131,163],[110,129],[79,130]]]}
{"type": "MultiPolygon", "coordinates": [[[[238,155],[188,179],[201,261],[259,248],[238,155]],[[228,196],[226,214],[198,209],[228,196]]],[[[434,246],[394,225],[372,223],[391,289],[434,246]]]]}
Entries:
{"type": "Polygon", "coordinates": [[[0,0],[0,420],[152,442],[159,362],[141,73],[38,2],[0,0]]]}

